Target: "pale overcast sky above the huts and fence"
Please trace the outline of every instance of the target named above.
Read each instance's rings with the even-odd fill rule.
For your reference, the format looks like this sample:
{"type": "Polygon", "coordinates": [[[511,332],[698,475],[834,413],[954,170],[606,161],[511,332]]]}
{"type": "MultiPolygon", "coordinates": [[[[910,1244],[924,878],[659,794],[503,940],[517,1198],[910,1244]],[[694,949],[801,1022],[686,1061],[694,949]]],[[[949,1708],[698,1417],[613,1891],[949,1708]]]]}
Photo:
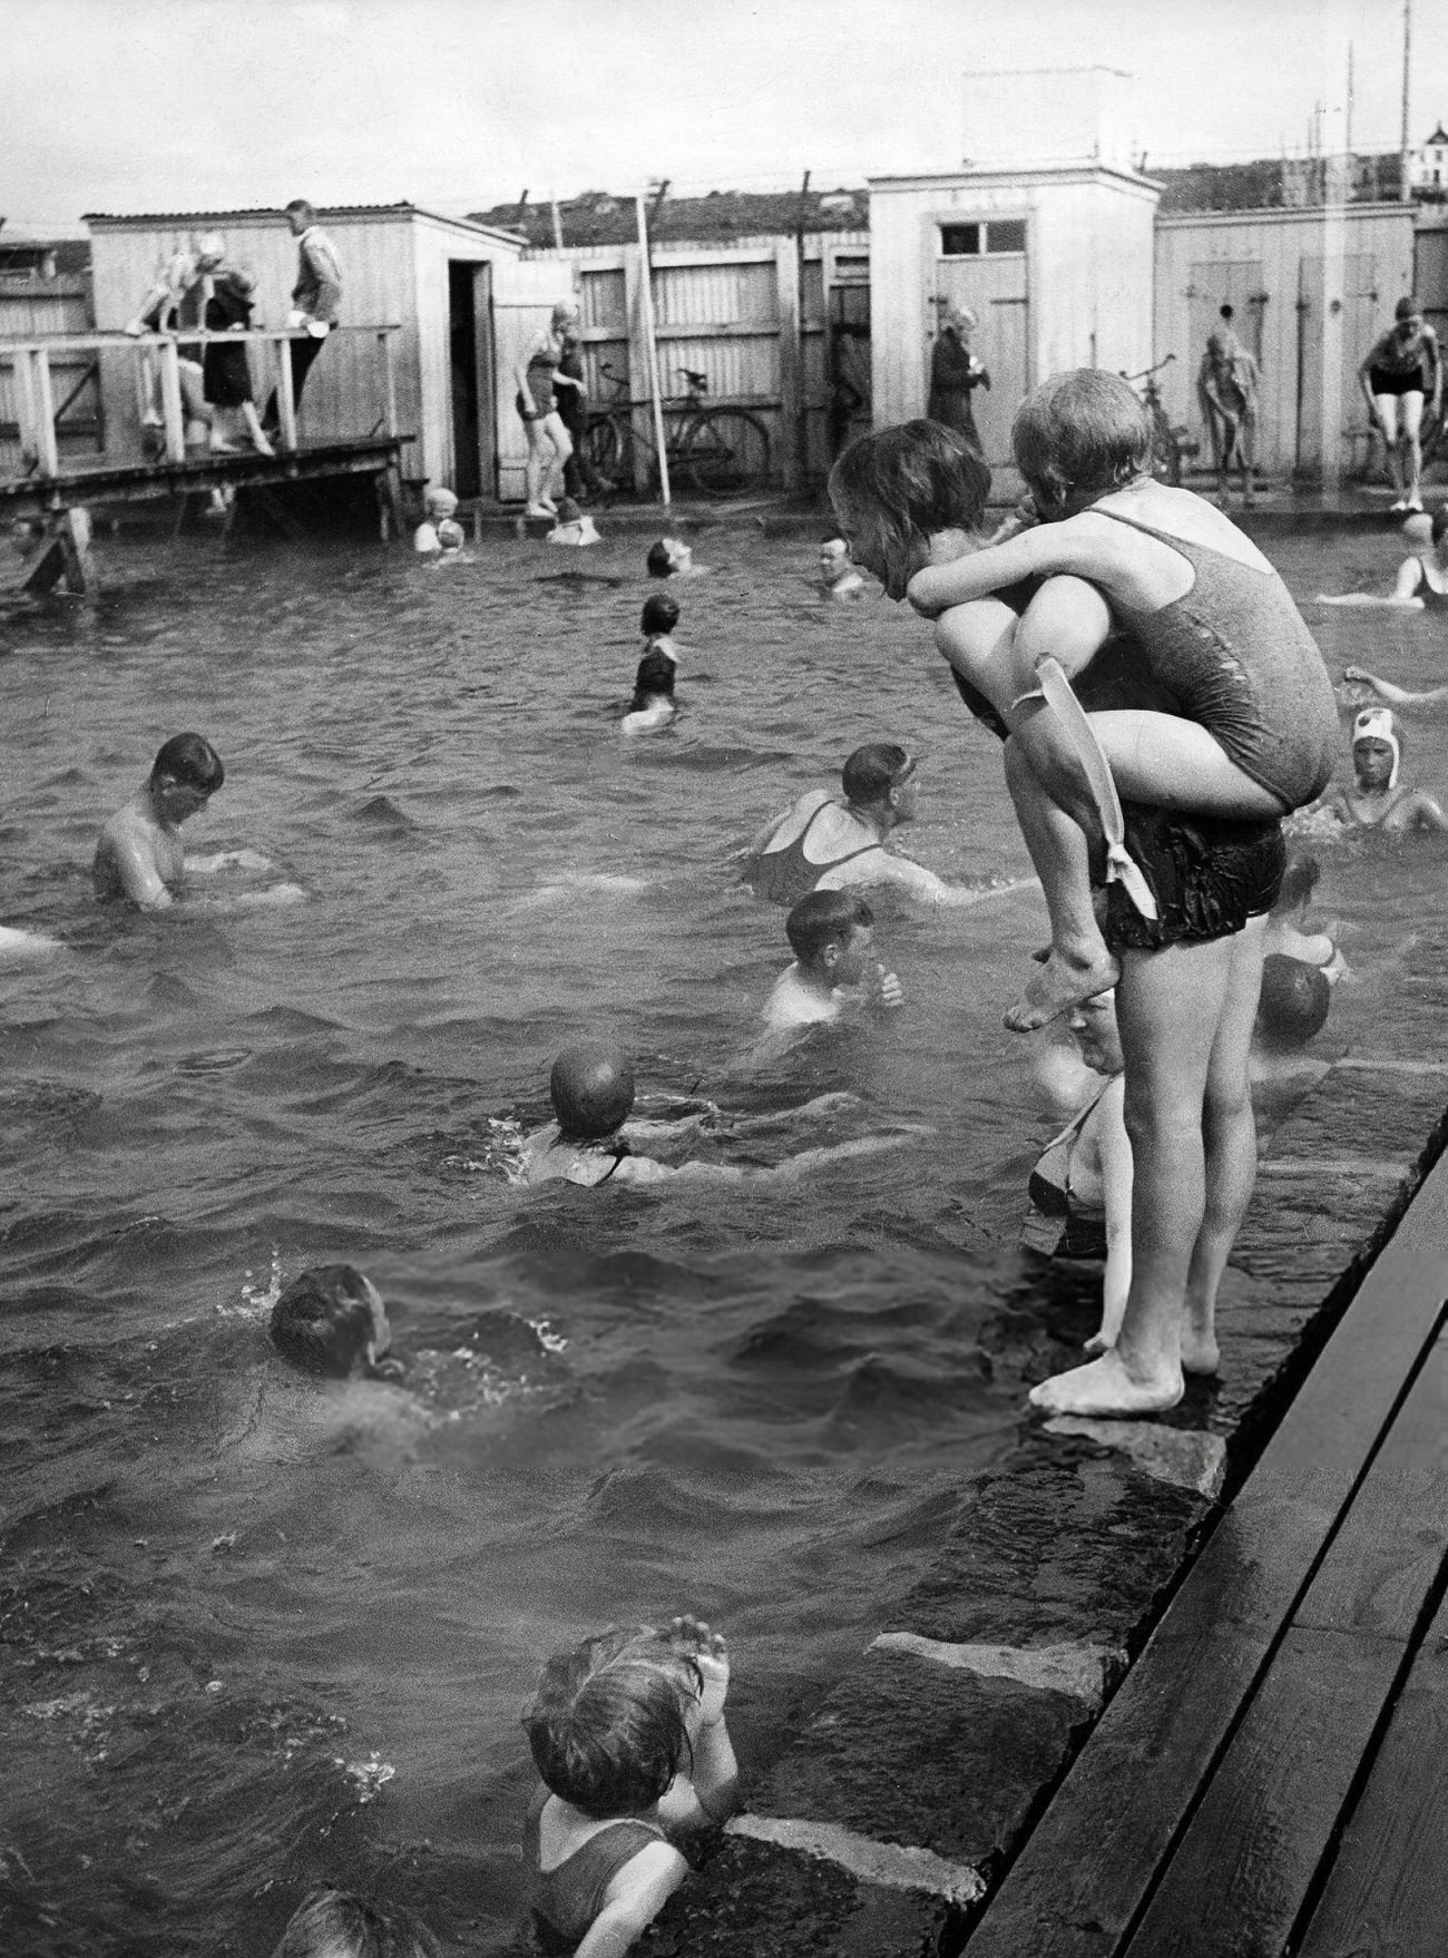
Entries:
{"type": "MultiPolygon", "coordinates": [[[[1421,141],[1448,4],[1413,16],[1421,141]]],[[[0,0],[0,215],[858,184],[960,163],[968,69],[1084,63],[1136,76],[1148,168],[1274,155],[1348,45],[1395,149],[1403,0],[0,0]]]]}

